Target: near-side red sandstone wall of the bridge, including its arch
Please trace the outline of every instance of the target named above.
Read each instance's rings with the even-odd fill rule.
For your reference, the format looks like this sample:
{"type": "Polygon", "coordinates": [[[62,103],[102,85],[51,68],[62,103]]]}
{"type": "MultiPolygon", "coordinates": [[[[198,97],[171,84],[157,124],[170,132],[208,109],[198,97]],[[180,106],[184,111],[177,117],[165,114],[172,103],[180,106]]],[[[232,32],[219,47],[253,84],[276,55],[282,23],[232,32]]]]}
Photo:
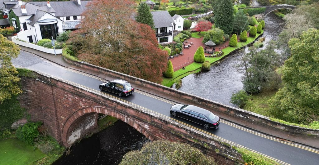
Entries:
{"type": "Polygon", "coordinates": [[[103,113],[128,123],[152,141],[165,139],[189,143],[214,157],[218,164],[243,163],[235,149],[213,135],[70,82],[42,73],[35,75],[36,78],[22,77],[24,93],[19,97],[20,103],[27,109],[32,121],[42,121],[50,128],[50,134],[65,146],[79,139],[72,136],[78,128],[92,125],[76,134],[78,137],[92,131],[96,126],[97,113],[103,113]],[[92,119],[95,119],[94,123],[92,119]]]}

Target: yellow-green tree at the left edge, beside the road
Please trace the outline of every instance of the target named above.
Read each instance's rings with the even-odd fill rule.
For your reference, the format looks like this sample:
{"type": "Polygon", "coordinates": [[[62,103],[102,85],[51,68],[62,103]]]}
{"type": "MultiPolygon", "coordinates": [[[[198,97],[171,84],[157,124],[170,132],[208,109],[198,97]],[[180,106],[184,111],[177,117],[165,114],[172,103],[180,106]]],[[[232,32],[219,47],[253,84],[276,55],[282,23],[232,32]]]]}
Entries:
{"type": "Polygon", "coordinates": [[[11,58],[17,58],[20,48],[0,34],[0,104],[10,99],[11,95],[22,93],[18,82],[17,69],[12,65],[11,58]]]}

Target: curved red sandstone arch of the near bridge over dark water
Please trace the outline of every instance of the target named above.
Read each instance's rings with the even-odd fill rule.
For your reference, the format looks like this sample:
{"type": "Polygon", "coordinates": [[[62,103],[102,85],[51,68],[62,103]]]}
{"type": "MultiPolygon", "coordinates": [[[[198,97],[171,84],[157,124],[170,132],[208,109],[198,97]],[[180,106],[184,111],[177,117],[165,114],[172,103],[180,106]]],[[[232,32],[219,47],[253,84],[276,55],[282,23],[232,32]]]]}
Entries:
{"type": "Polygon", "coordinates": [[[78,109],[77,111],[73,112],[64,122],[63,128],[62,128],[62,142],[64,146],[70,146],[72,143],[76,142],[79,138],[83,137],[83,133],[85,133],[85,129],[90,129],[91,127],[94,127],[97,124],[97,114],[105,114],[112,117],[115,117],[119,120],[122,120],[123,122],[129,124],[134,129],[136,129],[138,132],[145,135],[146,138],[150,139],[151,141],[156,140],[149,132],[146,131],[146,129],[141,126],[139,123],[135,122],[133,119],[129,118],[128,116],[124,116],[123,114],[120,114],[112,109],[108,109],[102,106],[89,106],[82,109],[78,109]],[[82,127],[80,129],[74,129],[77,120],[83,120],[83,117],[86,118],[87,123],[85,123],[85,127],[82,127]],[[93,122],[94,120],[94,122],[93,122]]]}

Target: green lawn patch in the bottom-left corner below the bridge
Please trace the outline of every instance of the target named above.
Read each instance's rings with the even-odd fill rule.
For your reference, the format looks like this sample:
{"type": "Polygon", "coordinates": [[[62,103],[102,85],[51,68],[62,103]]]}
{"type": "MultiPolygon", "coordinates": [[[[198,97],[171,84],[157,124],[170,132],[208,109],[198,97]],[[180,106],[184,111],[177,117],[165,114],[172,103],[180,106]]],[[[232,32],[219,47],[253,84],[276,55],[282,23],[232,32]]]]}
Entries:
{"type": "Polygon", "coordinates": [[[44,156],[39,149],[17,139],[0,141],[0,164],[33,164],[44,156]]]}

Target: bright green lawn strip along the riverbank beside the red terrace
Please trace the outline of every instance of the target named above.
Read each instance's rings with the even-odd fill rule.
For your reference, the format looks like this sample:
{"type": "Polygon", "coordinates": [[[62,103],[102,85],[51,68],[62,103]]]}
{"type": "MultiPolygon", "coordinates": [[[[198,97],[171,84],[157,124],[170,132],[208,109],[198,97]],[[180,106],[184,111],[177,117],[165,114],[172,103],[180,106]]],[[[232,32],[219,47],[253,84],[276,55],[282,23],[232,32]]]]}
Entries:
{"type": "MultiPolygon", "coordinates": [[[[263,34],[263,30],[262,33],[263,34]]],[[[219,57],[205,57],[205,61],[209,61],[211,64],[215,63],[216,61],[219,61],[220,59],[222,59],[223,57],[227,56],[229,53],[231,53],[232,51],[236,50],[236,49],[240,49],[242,47],[245,47],[246,45],[248,45],[249,43],[252,43],[255,41],[255,39],[260,36],[261,34],[258,34],[255,37],[248,37],[246,42],[239,42],[237,47],[227,47],[222,49],[224,52],[224,55],[219,56],[219,57]]],[[[193,37],[193,33],[192,33],[192,37],[193,37]]],[[[191,63],[188,66],[185,67],[185,69],[179,69],[176,70],[174,72],[174,75],[172,78],[165,78],[163,77],[163,81],[162,81],[162,85],[167,86],[167,87],[171,87],[175,81],[177,81],[178,79],[181,79],[183,77],[186,77],[192,73],[197,73],[201,70],[202,67],[202,63],[191,63]]]]}

